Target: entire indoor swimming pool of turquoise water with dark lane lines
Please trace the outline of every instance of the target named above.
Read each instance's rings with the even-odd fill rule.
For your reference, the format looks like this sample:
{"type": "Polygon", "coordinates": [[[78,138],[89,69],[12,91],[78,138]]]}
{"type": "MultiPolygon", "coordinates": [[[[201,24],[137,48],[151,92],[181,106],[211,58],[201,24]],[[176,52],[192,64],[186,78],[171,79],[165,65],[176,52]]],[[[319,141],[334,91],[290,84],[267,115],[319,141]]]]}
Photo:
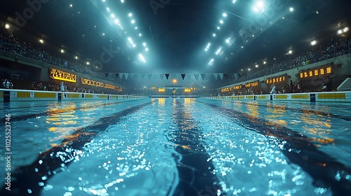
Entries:
{"type": "MultiPolygon", "coordinates": [[[[1,116],[11,113],[12,139],[11,191],[4,186],[1,195],[351,193],[349,104],[140,99],[1,107],[1,116]]],[[[1,156],[3,185],[5,165],[1,156]]]]}

